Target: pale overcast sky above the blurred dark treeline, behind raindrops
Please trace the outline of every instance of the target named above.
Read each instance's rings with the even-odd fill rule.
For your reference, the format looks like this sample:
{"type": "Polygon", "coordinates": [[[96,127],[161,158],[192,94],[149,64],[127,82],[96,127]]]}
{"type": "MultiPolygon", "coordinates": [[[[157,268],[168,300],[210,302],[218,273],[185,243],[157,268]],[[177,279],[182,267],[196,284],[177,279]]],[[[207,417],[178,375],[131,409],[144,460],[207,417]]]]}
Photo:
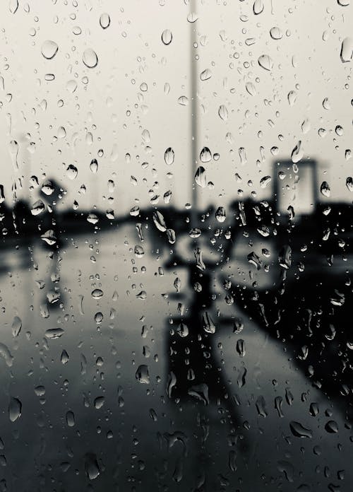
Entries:
{"type": "Polygon", "coordinates": [[[238,189],[270,197],[271,184],[261,188],[261,178],[275,179],[273,160],[288,158],[299,140],[303,159],[319,160],[319,184],[328,181],[330,199],[352,200],[345,181],[353,160],[345,151],[352,146],[353,62],[342,63],[340,50],[351,35],[353,6],[263,0],[255,15],[253,0],[195,4],[198,19],[190,23],[184,0],[19,0],[17,10],[16,0],[1,2],[1,182],[8,199],[23,176],[23,196],[34,201],[28,177],[41,181],[45,173],[68,189],[68,206],[76,199],[83,209],[95,204],[117,216],[148,205],[153,194],[162,204],[169,189],[171,204],[191,201],[191,57],[198,57],[198,152],[208,146],[220,154],[204,164],[214,188],[198,187],[202,205],[227,205],[238,189]],[[104,13],[107,28],[100,25],[104,13]],[[161,40],[164,30],[172,32],[169,45],[161,40]],[[47,40],[58,46],[52,59],[42,55],[47,40]],[[94,68],[83,63],[87,49],[97,54],[94,68]],[[258,63],[262,55],[269,71],[258,63]],[[210,78],[202,81],[206,69],[210,78]],[[181,96],[189,105],[179,103],[181,96]],[[20,144],[18,170],[11,163],[13,139],[20,144]],[[164,163],[169,147],[172,165],[164,163]],[[68,165],[78,169],[74,180],[68,165]],[[83,184],[85,196],[78,193],[83,184]]]}

